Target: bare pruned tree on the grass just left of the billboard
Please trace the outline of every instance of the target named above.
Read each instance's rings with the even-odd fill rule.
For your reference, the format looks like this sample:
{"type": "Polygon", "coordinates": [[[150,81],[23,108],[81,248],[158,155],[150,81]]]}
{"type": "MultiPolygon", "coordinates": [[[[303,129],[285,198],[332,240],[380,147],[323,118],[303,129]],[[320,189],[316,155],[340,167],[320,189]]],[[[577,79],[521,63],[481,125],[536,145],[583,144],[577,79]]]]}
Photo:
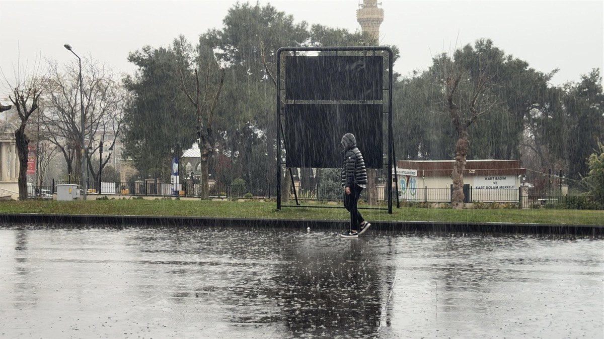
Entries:
{"type": "Polygon", "coordinates": [[[197,47],[197,58],[194,62],[190,58],[190,45],[184,37],[176,39],[174,42],[176,55],[178,56],[178,72],[181,77],[182,91],[187,95],[188,100],[195,108],[197,116],[197,136],[199,139],[199,154],[201,167],[201,198],[207,199],[210,195],[210,186],[208,183],[208,159],[216,149],[216,136],[213,130],[214,111],[220,98],[220,91],[225,78],[225,70],[220,67],[214,51],[205,42],[204,37],[199,38],[197,47]],[[195,91],[191,92],[187,86],[187,75],[190,76],[191,69],[189,65],[196,64],[193,69],[195,91]],[[218,77],[220,77],[218,79],[218,77]]]}

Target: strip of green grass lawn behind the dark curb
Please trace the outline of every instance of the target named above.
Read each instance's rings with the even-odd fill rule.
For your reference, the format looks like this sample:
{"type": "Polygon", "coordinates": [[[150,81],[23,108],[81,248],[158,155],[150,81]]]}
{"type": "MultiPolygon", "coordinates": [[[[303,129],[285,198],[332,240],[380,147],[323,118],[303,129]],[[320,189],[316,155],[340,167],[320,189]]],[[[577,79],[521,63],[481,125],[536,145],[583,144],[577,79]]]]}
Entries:
{"type": "MultiPolygon", "coordinates": [[[[320,206],[313,204],[313,206],[320,206]]],[[[344,209],[282,208],[274,201],[89,200],[0,201],[0,214],[162,215],[184,217],[348,220],[344,209]]],[[[380,221],[451,221],[457,223],[538,223],[603,225],[604,211],[565,209],[452,209],[393,208],[361,211],[365,219],[380,221]]]]}

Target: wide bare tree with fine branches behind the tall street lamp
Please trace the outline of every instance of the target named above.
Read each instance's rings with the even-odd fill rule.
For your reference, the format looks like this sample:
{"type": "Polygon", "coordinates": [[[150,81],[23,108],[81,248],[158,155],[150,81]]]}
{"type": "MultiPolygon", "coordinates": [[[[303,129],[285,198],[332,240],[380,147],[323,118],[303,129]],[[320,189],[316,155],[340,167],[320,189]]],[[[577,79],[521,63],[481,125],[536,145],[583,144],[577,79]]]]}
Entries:
{"type": "Polygon", "coordinates": [[[49,130],[48,140],[56,145],[65,158],[70,178],[79,179],[82,173],[80,157],[86,156],[88,170],[96,182],[100,168],[109,161],[109,157],[101,162],[100,168],[96,168],[92,166],[91,154],[80,154],[80,100],[84,103],[84,134],[87,139],[85,147],[94,154],[99,147],[98,141],[109,141],[111,147],[114,147],[119,138],[125,92],[111,69],[89,57],[83,60],[84,97],[80,98],[77,63],[59,66],[54,60],[47,61],[48,110],[43,116],[43,123],[49,130]]]}

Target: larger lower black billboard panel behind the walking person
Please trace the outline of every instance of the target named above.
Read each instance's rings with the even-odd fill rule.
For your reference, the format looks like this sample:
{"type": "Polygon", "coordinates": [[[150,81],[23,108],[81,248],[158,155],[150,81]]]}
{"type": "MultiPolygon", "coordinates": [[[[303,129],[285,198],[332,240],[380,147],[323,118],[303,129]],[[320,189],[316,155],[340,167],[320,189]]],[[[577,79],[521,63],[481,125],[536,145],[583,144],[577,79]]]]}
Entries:
{"type": "Polygon", "coordinates": [[[367,168],[382,168],[382,105],[291,104],[285,108],[286,166],[341,168],[340,140],[356,137],[367,168]]]}

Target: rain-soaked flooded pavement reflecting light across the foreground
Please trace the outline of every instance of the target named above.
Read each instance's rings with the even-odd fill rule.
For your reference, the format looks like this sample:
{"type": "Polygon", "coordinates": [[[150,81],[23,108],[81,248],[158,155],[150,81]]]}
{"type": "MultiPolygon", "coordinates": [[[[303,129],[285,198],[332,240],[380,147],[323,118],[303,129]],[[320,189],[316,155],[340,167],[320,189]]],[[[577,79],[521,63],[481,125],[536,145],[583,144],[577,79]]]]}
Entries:
{"type": "Polygon", "coordinates": [[[0,229],[0,338],[604,335],[604,241],[0,229]]]}

